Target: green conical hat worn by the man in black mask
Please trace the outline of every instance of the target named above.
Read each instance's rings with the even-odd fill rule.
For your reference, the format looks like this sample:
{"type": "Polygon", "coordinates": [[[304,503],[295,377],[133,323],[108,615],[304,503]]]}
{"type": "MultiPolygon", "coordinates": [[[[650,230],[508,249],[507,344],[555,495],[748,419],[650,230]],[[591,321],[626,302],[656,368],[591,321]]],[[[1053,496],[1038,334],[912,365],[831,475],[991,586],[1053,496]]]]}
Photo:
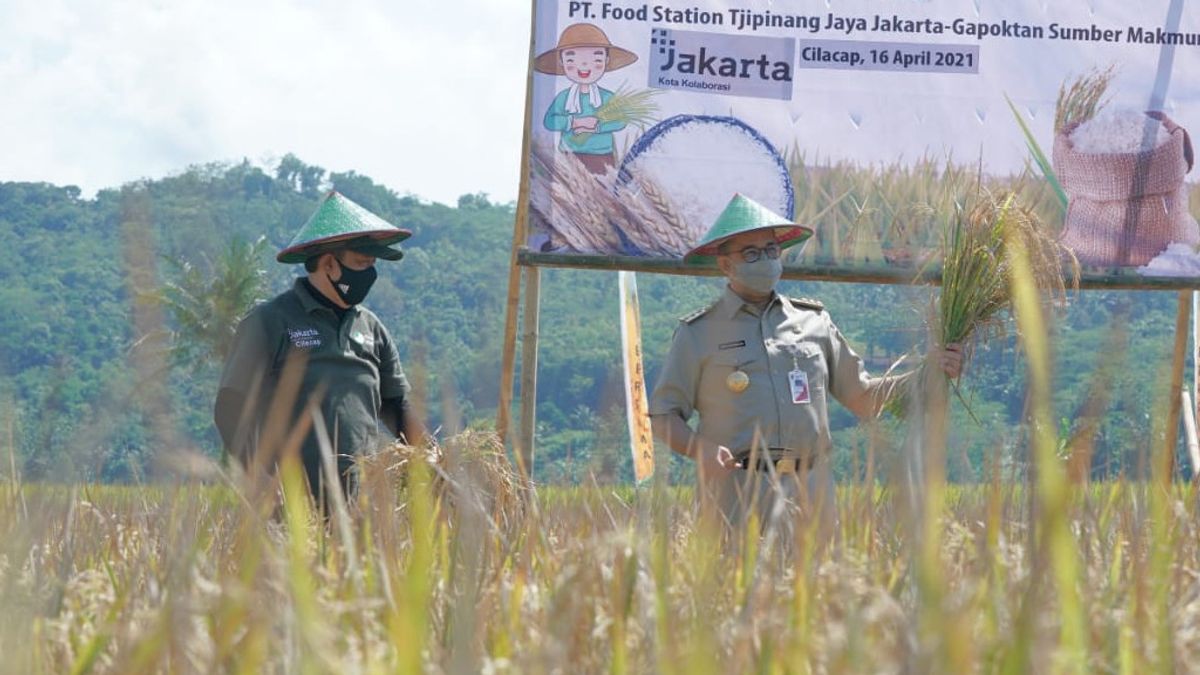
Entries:
{"type": "Polygon", "coordinates": [[[353,249],[385,261],[398,261],[404,253],[389,245],[412,235],[410,231],[396,227],[331,190],[275,259],[302,263],[318,253],[353,249]]]}

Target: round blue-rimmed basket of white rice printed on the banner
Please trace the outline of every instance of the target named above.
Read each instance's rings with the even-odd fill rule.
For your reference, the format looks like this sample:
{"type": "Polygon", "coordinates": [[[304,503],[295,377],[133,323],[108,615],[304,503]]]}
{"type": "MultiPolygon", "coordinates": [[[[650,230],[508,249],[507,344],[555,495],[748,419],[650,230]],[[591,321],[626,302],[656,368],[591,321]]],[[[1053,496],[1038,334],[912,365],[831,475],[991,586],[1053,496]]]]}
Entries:
{"type": "Polygon", "coordinates": [[[617,184],[618,195],[625,191],[666,207],[673,228],[683,231],[672,239],[689,247],[737,192],[787,217],[796,203],[780,154],[751,126],[728,117],[676,115],[650,127],[625,155],[617,184]]]}

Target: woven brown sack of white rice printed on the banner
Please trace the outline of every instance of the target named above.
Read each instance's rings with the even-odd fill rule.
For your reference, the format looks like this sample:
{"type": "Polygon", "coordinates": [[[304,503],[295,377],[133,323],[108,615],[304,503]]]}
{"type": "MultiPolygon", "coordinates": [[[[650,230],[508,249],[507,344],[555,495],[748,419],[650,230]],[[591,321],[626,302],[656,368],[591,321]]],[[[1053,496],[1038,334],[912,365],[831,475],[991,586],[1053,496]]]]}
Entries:
{"type": "Polygon", "coordinates": [[[1200,243],[1183,183],[1188,132],[1160,112],[1104,110],[1055,137],[1067,192],[1062,244],[1087,265],[1144,265],[1170,244],[1200,243]]]}

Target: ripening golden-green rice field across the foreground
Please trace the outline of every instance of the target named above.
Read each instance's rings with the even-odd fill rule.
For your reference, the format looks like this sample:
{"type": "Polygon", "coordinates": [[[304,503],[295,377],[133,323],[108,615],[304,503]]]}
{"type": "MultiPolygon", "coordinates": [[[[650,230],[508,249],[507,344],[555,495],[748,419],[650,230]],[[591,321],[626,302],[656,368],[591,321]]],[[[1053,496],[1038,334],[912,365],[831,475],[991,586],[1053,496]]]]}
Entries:
{"type": "Polygon", "coordinates": [[[1069,484],[1063,528],[1032,485],[948,485],[929,556],[874,479],[839,486],[832,540],[781,545],[722,536],[688,486],[530,490],[449,453],[481,446],[378,455],[328,520],[290,462],[10,483],[0,671],[1200,671],[1195,485],[1069,484]]]}

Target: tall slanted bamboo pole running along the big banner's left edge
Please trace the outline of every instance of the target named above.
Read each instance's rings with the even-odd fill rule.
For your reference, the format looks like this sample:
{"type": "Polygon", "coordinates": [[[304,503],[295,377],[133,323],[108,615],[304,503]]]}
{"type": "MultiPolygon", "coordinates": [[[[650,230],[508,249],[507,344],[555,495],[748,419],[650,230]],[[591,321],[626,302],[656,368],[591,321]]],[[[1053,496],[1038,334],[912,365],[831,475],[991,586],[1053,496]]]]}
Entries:
{"type": "Polygon", "coordinates": [[[509,298],[504,309],[504,342],[500,347],[500,395],[496,408],[496,432],[508,444],[512,408],[512,375],[517,358],[517,310],[521,304],[521,269],[517,255],[524,247],[529,223],[529,135],[533,119],[533,52],[538,25],[538,0],[529,4],[529,62],[526,66],[524,135],[521,141],[521,184],[517,213],[512,223],[512,255],[509,258],[509,298]]]}

